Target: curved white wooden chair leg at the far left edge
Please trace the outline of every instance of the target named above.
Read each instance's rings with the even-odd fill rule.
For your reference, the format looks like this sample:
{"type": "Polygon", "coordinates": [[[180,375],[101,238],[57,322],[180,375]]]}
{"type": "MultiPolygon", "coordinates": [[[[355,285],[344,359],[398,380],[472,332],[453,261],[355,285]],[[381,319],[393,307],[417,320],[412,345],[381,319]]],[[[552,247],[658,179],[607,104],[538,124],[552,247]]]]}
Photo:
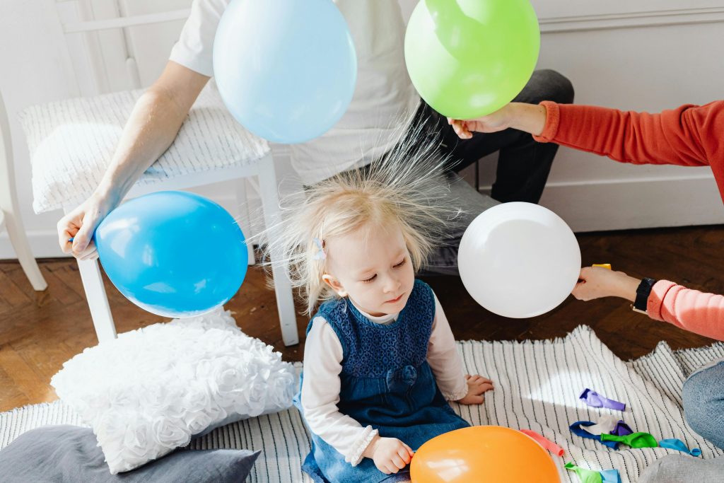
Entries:
{"type": "Polygon", "coordinates": [[[30,251],[28,237],[25,235],[17,204],[15,173],[12,164],[10,125],[5,103],[0,94],[0,230],[7,229],[10,243],[17,254],[17,260],[20,261],[23,272],[30,280],[30,285],[33,285],[33,289],[38,292],[42,292],[46,290],[48,284],[30,251]]]}

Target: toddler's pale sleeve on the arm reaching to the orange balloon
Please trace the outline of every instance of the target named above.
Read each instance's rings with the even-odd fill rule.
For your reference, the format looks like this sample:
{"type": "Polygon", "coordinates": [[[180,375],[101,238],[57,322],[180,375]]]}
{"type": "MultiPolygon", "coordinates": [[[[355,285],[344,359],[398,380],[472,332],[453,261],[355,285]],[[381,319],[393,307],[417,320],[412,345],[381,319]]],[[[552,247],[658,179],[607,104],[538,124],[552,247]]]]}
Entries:
{"type": "Polygon", "coordinates": [[[315,317],[304,346],[301,405],[311,432],[357,466],[362,453],[377,435],[371,426],[340,413],[342,344],[323,317],[315,317]]]}

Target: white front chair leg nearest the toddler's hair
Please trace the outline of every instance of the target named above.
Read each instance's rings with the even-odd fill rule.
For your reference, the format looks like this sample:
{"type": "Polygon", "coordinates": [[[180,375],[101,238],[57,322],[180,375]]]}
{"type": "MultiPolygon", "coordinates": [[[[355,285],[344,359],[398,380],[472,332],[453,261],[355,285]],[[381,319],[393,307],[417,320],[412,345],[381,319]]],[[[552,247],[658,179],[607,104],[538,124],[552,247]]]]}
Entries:
{"type": "MultiPolygon", "coordinates": [[[[259,161],[259,191],[261,192],[261,206],[264,210],[264,222],[269,238],[274,238],[279,231],[279,196],[277,194],[277,175],[274,174],[274,159],[271,155],[259,161]]],[[[277,259],[279,253],[270,253],[271,259],[277,259]]],[[[277,295],[277,310],[279,311],[279,325],[282,328],[284,345],[299,343],[297,330],[297,314],[294,309],[294,296],[287,270],[276,266],[271,270],[274,276],[274,293],[277,295]]]]}

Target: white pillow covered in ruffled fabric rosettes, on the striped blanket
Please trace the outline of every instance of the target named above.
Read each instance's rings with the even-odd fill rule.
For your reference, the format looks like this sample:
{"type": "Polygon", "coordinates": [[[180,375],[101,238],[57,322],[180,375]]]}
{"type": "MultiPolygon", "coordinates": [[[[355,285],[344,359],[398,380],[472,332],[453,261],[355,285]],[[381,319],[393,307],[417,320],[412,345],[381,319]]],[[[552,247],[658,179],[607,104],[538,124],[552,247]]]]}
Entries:
{"type": "Polygon", "coordinates": [[[51,385],[93,427],[111,474],[187,445],[236,414],[288,408],[292,364],[236,327],[230,312],[120,334],[67,361],[51,385]]]}

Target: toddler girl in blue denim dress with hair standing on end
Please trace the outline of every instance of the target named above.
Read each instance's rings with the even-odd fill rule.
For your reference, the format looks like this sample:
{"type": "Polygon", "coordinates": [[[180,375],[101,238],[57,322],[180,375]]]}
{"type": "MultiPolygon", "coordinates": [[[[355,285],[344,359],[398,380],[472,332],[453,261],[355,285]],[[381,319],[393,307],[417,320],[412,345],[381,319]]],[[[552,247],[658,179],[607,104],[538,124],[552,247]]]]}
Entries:
{"type": "Polygon", "coordinates": [[[450,211],[430,151],[392,154],[308,188],[274,243],[306,312],[323,301],[295,398],[312,434],[303,470],[316,482],[408,479],[424,442],[469,426],[447,400],[481,404],[492,389],[463,374],[439,301],[415,280],[450,211]]]}

